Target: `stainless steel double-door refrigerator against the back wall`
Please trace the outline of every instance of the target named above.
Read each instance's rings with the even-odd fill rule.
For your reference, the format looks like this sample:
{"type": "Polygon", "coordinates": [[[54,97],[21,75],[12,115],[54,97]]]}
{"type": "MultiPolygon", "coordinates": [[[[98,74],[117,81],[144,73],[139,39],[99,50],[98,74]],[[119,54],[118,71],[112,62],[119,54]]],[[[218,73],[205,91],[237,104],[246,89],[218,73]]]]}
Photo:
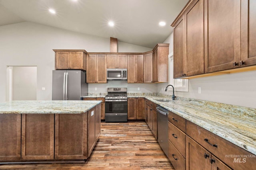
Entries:
{"type": "Polygon", "coordinates": [[[52,70],[52,100],[82,100],[87,95],[86,72],[52,70]]]}

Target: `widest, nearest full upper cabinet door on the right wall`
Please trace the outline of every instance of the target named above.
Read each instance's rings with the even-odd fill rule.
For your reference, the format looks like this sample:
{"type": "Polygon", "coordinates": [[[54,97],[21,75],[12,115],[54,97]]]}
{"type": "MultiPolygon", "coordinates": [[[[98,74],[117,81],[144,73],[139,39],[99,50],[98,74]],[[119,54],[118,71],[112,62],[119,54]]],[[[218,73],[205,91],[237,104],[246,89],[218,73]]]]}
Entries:
{"type": "Polygon", "coordinates": [[[239,67],[240,0],[204,2],[205,73],[239,67]]]}

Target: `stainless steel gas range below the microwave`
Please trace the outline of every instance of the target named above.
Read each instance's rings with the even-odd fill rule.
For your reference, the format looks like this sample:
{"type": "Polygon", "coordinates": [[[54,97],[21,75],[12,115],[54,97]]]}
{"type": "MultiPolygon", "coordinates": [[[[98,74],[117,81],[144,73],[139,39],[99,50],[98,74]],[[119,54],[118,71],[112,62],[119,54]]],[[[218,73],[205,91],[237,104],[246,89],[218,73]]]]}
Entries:
{"type": "Polygon", "coordinates": [[[105,97],[105,121],[127,122],[127,88],[108,88],[105,97]]]}

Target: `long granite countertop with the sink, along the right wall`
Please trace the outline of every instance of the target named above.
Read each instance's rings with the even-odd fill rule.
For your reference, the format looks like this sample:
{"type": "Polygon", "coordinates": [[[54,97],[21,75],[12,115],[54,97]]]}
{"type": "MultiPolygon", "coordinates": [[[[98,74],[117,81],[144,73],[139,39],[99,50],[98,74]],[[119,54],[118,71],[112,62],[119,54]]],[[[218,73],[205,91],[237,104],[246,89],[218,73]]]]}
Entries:
{"type": "Polygon", "coordinates": [[[144,97],[238,147],[256,154],[256,109],[186,98],[158,102],[154,99],[164,99],[164,97],[144,97]]]}

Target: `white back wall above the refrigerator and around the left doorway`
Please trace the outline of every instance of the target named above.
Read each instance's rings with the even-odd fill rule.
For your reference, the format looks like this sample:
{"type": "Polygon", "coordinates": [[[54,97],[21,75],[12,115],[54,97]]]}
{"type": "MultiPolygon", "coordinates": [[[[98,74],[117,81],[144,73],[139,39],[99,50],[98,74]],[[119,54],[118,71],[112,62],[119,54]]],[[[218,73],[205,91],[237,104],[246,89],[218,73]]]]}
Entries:
{"type": "MultiPolygon", "coordinates": [[[[0,39],[0,102],[6,100],[7,66],[37,66],[37,100],[51,100],[54,70],[52,49],[110,51],[110,39],[31,22],[0,26],[0,39]],[[46,90],[42,91],[42,87],[46,90]]],[[[118,42],[118,52],[150,50],[152,49],[118,42]]]]}

